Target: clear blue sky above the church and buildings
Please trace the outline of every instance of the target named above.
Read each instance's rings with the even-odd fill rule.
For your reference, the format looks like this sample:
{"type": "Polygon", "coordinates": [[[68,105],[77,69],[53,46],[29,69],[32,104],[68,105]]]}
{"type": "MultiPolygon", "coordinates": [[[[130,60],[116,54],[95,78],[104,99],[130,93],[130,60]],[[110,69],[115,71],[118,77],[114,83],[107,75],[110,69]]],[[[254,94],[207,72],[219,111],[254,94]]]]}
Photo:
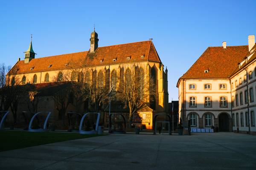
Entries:
{"type": "Polygon", "coordinates": [[[208,46],[247,45],[256,35],[256,1],[1,1],[0,63],[23,58],[30,34],[36,57],[87,51],[93,24],[99,46],[153,38],[169,71],[171,101],[178,99],[178,78],[208,46]]]}

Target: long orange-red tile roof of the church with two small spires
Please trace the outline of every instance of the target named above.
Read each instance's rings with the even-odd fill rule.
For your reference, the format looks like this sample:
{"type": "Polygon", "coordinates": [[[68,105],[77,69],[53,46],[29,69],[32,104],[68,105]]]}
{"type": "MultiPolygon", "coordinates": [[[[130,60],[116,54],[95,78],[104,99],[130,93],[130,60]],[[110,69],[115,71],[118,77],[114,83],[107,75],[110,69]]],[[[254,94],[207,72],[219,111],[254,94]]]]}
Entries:
{"type": "Polygon", "coordinates": [[[62,54],[50,57],[32,59],[29,63],[23,60],[16,63],[13,68],[18,68],[18,74],[62,70],[68,68],[65,64],[76,67],[111,65],[117,63],[152,61],[161,62],[152,41],[132,42],[120,45],[99,47],[95,53],[88,51],[62,54]],[[143,58],[141,56],[144,56],[143,58]],[[128,60],[127,58],[130,57],[128,60]],[[116,59],[116,62],[113,61],[116,59]],[[102,60],[102,62],[100,62],[102,60]],[[50,68],[48,66],[51,65],[50,68]],[[32,70],[30,70],[33,68],[32,70]]]}

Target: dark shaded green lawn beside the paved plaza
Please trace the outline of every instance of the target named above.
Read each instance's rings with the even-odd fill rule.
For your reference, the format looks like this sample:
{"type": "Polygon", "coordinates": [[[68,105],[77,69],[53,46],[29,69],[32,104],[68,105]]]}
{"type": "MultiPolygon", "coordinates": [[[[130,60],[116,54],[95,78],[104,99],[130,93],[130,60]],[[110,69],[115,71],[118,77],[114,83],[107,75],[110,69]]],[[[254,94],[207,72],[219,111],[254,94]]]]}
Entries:
{"type": "Polygon", "coordinates": [[[27,132],[27,131],[0,131],[0,152],[23,147],[37,146],[54,142],[62,142],[73,139],[90,138],[93,135],[79,133],[58,133],[58,132],[27,132]]]}

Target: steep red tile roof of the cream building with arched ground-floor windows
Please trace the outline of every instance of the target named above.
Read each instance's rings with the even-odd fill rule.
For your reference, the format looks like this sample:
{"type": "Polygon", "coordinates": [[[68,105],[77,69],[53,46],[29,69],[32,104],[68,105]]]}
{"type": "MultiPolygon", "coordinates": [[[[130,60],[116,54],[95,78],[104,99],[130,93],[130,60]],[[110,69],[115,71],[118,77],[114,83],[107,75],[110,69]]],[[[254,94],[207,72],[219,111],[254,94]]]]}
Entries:
{"type": "Polygon", "coordinates": [[[180,79],[229,78],[247,53],[248,45],[208,47],[180,79]]]}

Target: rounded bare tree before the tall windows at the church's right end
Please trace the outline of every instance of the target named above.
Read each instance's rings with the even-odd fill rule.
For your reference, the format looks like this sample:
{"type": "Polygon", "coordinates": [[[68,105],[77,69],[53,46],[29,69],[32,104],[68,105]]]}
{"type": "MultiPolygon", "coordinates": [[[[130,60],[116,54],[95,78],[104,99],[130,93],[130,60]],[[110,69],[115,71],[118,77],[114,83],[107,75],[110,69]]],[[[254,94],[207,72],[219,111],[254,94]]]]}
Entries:
{"type": "Polygon", "coordinates": [[[155,82],[146,74],[143,66],[125,66],[124,73],[119,77],[118,99],[129,106],[129,122],[131,125],[134,113],[140,109],[145,102],[150,102],[155,94],[155,82]],[[153,95],[152,95],[153,94],[153,95]]]}

